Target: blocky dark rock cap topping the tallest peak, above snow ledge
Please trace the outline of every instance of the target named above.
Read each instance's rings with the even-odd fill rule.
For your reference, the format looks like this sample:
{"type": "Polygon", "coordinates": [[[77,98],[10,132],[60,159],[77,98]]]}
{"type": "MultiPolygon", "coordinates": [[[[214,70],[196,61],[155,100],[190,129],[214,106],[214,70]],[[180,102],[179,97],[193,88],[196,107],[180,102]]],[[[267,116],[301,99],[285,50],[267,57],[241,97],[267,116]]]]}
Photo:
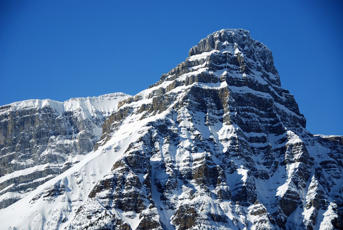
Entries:
{"type": "Polygon", "coordinates": [[[274,75],[273,79],[269,78],[272,84],[281,86],[271,50],[261,42],[252,39],[249,31],[243,29],[216,31],[189,50],[188,60],[219,52],[222,54],[220,59],[210,57],[209,61],[221,65],[225,63],[238,65],[246,74],[264,70],[265,74],[274,75]]]}

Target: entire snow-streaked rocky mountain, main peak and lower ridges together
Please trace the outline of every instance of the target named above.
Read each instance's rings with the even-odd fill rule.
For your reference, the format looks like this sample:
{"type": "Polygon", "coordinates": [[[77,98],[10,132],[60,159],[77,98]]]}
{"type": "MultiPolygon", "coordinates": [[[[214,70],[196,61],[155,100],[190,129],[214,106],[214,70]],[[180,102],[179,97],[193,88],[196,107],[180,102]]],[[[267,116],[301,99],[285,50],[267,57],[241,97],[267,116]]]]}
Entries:
{"type": "Polygon", "coordinates": [[[220,30],[135,96],[0,107],[1,229],[343,229],[343,136],[220,30]]]}

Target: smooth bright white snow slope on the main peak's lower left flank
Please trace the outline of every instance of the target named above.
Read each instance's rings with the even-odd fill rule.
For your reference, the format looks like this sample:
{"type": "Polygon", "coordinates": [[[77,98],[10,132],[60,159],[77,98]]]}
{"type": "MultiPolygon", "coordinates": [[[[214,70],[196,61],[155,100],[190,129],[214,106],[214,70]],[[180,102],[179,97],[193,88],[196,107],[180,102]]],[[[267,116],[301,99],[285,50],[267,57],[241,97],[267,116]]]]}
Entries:
{"type": "MultiPolygon", "coordinates": [[[[125,141],[125,138],[120,141],[123,143],[123,146],[128,146],[129,143],[125,141]]],[[[108,147],[108,146],[106,146],[108,147]]],[[[126,148],[125,148],[126,149],[126,148]]],[[[123,152],[123,150],[121,150],[123,152]]],[[[98,150],[96,152],[91,152],[85,156],[83,160],[81,160],[79,163],[75,164],[73,167],[69,168],[66,172],[56,176],[55,178],[49,180],[48,182],[44,183],[43,185],[40,185],[36,190],[33,192],[29,193],[26,197],[22,198],[20,201],[14,203],[13,205],[1,209],[0,213],[2,218],[6,219],[9,226],[11,223],[17,223],[16,227],[18,229],[26,229],[27,223],[23,219],[26,215],[25,213],[35,213],[35,210],[40,210],[39,215],[42,215],[44,219],[47,221],[53,216],[49,216],[47,211],[49,210],[62,210],[64,209],[63,203],[60,202],[55,202],[54,207],[49,207],[49,209],[43,209],[44,205],[44,200],[39,199],[36,203],[29,205],[30,200],[32,200],[36,195],[40,194],[45,188],[50,187],[54,185],[55,183],[61,181],[61,180],[66,180],[68,183],[68,187],[70,186],[72,189],[67,192],[68,197],[70,200],[79,200],[76,201],[76,204],[74,204],[75,207],[78,207],[81,204],[81,201],[84,201],[84,199],[87,197],[87,193],[90,192],[90,190],[94,187],[95,184],[93,183],[87,183],[87,182],[96,182],[99,179],[102,178],[104,175],[104,172],[108,172],[109,169],[112,167],[113,162],[115,162],[119,157],[121,156],[120,151],[115,153],[115,154],[108,154],[106,152],[103,153],[102,150],[98,150]],[[90,163],[92,161],[92,163],[90,163]],[[101,168],[98,168],[98,166],[101,165],[101,168]],[[86,175],[83,175],[82,172],[86,172],[86,175]],[[83,178],[82,181],[82,187],[81,189],[76,183],[74,183],[73,179],[73,174],[74,172],[80,172],[80,176],[85,177],[83,178]],[[70,183],[70,184],[69,184],[70,183]],[[79,194],[81,194],[81,197],[79,197],[79,194]],[[26,204],[26,205],[25,205],[26,204]],[[16,210],[17,216],[13,215],[7,215],[7,213],[10,210],[16,210]],[[24,221],[24,222],[22,222],[24,221]]],[[[73,212],[75,212],[75,209],[73,209],[73,212]]],[[[68,214],[66,214],[68,216],[68,214]]],[[[37,216],[35,214],[34,216],[37,216]]],[[[40,221],[39,221],[40,222],[40,221]]],[[[45,223],[47,224],[47,223],[45,223]]],[[[65,225],[66,223],[64,223],[65,225]]],[[[63,224],[62,224],[63,225],[63,224]]],[[[3,227],[7,227],[5,224],[3,227]]]]}

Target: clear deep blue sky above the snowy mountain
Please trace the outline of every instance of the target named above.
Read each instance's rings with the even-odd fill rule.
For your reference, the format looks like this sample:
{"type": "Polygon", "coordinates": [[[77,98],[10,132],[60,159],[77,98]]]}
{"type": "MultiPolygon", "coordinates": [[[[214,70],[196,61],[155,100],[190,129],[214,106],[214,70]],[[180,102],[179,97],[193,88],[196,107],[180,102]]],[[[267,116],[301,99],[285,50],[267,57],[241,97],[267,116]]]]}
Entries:
{"type": "Polygon", "coordinates": [[[0,2],[0,105],[137,94],[206,35],[243,28],[271,48],[312,133],[343,135],[340,1],[0,2]]]}

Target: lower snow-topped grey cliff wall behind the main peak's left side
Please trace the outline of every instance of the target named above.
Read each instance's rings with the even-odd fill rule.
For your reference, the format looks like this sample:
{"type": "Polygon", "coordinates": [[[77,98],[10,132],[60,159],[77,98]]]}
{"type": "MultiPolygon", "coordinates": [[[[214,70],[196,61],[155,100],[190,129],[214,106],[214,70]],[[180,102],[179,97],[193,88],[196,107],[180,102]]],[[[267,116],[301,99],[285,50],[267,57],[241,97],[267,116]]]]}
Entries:
{"type": "Polygon", "coordinates": [[[128,98],[26,100],[0,107],[0,208],[65,171],[92,151],[103,121],[128,98]]]}

